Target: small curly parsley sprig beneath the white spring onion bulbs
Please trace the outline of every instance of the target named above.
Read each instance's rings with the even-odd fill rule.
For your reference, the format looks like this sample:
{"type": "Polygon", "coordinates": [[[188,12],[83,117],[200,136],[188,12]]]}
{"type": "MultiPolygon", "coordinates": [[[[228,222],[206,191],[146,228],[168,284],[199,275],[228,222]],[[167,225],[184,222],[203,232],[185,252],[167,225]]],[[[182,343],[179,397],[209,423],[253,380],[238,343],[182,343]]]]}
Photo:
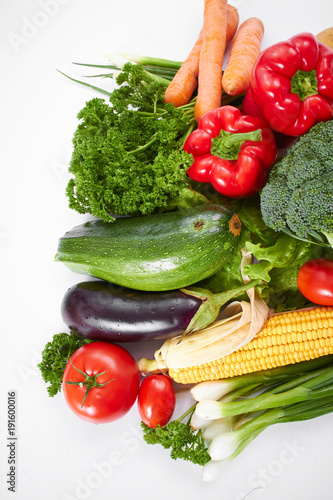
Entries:
{"type": "Polygon", "coordinates": [[[210,457],[202,437],[201,429],[191,429],[191,414],[194,407],[187,410],[184,415],[172,420],[166,426],[157,426],[156,429],[148,427],[143,422],[143,439],[147,444],[160,444],[163,448],[171,449],[170,456],[173,460],[182,459],[198,465],[205,465],[210,457]],[[186,423],[183,420],[190,415],[186,423]]]}

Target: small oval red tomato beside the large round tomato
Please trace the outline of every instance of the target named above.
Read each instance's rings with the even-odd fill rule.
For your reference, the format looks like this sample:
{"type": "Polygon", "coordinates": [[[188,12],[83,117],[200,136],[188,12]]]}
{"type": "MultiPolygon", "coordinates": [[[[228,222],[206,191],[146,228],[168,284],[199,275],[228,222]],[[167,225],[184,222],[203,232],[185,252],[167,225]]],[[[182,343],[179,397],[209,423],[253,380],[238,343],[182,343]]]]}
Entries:
{"type": "Polygon", "coordinates": [[[141,420],[156,429],[163,427],[172,417],[176,396],[171,379],[166,375],[146,377],[139,389],[138,409],[141,420]]]}

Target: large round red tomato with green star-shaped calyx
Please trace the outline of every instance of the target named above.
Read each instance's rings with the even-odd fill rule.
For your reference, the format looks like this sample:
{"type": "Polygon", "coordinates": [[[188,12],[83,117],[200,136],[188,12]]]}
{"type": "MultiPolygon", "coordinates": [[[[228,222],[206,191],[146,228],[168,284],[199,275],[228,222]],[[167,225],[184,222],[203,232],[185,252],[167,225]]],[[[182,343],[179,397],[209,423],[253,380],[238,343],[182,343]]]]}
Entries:
{"type": "Polygon", "coordinates": [[[133,406],[140,384],[134,358],[121,346],[92,342],[71,356],[63,376],[69,408],[95,424],[112,422],[133,406]]]}

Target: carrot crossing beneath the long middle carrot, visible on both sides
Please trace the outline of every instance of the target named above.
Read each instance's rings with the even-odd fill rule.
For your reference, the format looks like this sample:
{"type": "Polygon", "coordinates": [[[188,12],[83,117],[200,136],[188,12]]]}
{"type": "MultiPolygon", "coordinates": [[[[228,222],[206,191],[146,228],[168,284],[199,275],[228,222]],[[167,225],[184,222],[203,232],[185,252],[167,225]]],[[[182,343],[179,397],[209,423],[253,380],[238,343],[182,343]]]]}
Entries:
{"type": "MultiPolygon", "coordinates": [[[[238,28],[239,15],[236,7],[227,6],[226,46],[231,42],[238,28]]],[[[171,102],[176,108],[187,104],[198,85],[199,58],[202,46],[202,33],[191,52],[177,71],[165,92],[165,102],[171,102]]]]}

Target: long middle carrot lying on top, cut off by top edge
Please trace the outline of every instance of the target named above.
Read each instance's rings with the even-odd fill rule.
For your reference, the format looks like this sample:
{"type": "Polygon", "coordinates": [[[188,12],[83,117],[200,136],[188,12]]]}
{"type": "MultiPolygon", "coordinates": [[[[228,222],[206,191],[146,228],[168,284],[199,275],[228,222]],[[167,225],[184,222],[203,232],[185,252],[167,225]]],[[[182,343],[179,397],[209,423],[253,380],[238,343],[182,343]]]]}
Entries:
{"type": "Polygon", "coordinates": [[[221,105],[226,33],[227,0],[205,0],[198,95],[194,108],[194,117],[197,121],[207,111],[221,105]]]}

